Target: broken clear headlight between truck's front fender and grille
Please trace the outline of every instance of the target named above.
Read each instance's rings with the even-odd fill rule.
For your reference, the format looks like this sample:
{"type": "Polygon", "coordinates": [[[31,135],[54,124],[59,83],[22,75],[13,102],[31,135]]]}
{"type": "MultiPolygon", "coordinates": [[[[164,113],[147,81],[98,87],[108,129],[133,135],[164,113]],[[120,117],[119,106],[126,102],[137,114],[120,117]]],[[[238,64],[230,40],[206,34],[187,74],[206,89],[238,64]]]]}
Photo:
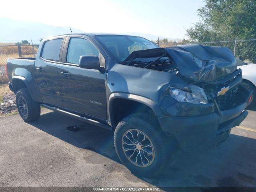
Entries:
{"type": "Polygon", "coordinates": [[[170,95],[179,102],[189,102],[194,104],[207,104],[208,99],[204,90],[195,85],[189,85],[190,91],[184,91],[175,87],[170,87],[170,95]]]}

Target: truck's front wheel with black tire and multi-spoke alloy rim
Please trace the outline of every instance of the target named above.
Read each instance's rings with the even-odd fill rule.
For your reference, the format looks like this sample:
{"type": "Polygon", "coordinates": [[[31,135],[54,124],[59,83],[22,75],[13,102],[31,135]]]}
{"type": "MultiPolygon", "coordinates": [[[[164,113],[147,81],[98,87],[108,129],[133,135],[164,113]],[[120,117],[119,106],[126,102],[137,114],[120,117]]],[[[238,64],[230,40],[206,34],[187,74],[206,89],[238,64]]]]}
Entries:
{"type": "Polygon", "coordinates": [[[134,174],[153,177],[163,174],[175,149],[154,116],[129,115],[114,132],[114,146],[122,163],[134,174]]]}

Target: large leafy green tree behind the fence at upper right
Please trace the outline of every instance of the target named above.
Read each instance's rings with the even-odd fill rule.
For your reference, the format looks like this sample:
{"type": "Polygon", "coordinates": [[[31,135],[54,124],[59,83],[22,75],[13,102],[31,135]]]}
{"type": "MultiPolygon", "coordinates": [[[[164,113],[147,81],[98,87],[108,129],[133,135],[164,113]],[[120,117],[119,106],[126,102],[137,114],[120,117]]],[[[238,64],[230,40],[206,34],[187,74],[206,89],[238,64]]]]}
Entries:
{"type": "MultiPolygon", "coordinates": [[[[198,9],[200,21],[186,30],[192,42],[212,42],[256,38],[256,0],[204,0],[198,9]]],[[[256,62],[251,42],[237,43],[236,56],[256,62]]],[[[218,44],[215,44],[218,45],[218,44]]],[[[234,49],[234,42],[220,44],[234,49]]]]}

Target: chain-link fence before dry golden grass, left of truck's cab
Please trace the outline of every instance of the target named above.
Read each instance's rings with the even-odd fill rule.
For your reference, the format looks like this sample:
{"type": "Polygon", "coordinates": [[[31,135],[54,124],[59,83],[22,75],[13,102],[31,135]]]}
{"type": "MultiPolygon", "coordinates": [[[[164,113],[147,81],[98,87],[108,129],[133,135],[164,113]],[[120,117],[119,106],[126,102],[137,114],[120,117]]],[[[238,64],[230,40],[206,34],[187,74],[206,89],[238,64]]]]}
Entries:
{"type": "Polygon", "coordinates": [[[35,57],[38,47],[39,44],[0,43],[0,66],[4,66],[8,58],[35,57]]]}

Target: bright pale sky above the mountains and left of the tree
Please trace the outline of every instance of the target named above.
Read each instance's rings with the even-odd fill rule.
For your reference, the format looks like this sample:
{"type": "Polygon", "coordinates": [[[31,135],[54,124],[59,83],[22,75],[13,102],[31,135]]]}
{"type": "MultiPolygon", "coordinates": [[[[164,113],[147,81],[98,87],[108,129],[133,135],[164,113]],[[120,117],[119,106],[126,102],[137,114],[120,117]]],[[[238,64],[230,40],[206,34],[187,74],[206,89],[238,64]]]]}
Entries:
{"type": "Polygon", "coordinates": [[[9,0],[0,17],[71,26],[84,32],[140,32],[183,38],[185,28],[199,20],[202,0],[9,0]],[[15,5],[15,6],[13,6],[15,5]],[[28,10],[28,11],[26,11],[28,10]],[[34,14],[33,14],[34,12],[34,14]]]}

